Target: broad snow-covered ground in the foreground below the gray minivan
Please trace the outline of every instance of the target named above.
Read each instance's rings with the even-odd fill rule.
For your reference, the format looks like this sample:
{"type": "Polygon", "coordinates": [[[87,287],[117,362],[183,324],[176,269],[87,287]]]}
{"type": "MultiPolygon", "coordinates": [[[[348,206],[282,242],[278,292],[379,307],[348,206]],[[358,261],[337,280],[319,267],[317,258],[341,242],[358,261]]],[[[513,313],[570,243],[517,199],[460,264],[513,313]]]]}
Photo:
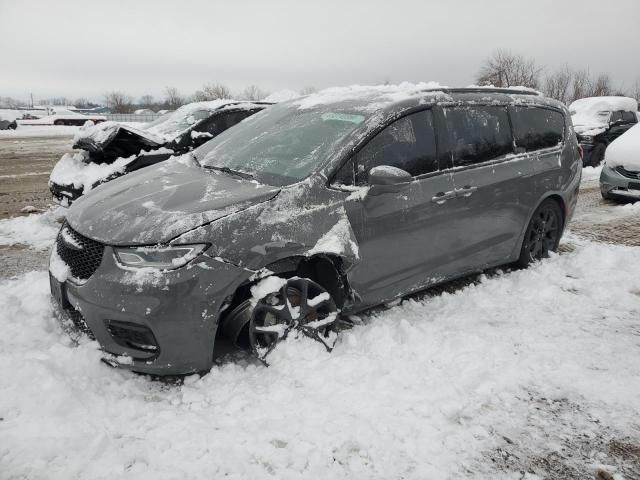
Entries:
{"type": "Polygon", "coordinates": [[[488,458],[500,449],[584,472],[572,441],[637,438],[638,264],[637,248],[577,245],[369,316],[331,354],[291,339],[268,368],[227,363],[180,386],[107,367],[95,342],[74,345],[53,319],[47,273],[29,273],[0,283],[0,471],[504,478],[488,458]]]}

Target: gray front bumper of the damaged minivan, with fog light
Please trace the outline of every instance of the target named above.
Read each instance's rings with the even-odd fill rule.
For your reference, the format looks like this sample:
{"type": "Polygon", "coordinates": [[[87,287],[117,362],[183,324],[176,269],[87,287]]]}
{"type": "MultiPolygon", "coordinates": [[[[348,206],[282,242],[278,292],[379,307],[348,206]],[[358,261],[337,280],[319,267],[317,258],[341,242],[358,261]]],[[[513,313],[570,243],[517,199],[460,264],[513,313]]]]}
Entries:
{"type": "Polygon", "coordinates": [[[225,299],[252,273],[206,255],[177,270],[124,270],[105,246],[96,272],[65,281],[66,302],[55,303],[76,328],[86,326],[111,364],[154,375],[201,372],[213,363],[225,299]]]}

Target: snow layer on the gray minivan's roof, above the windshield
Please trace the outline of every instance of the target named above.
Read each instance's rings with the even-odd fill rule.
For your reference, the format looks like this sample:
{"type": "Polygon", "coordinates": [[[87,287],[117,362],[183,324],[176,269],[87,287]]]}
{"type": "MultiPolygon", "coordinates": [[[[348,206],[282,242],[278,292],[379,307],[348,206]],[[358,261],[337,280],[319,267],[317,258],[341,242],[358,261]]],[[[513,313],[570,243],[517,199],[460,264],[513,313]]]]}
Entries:
{"type": "MultiPolygon", "coordinates": [[[[341,103],[349,100],[362,100],[371,102],[369,110],[377,110],[387,103],[394,103],[417,94],[424,94],[425,90],[446,88],[437,82],[409,83],[402,82],[398,85],[351,85],[348,87],[326,88],[316,93],[295,100],[301,110],[314,108],[319,105],[341,103]]],[[[434,92],[435,93],[435,92],[434,92]]]]}

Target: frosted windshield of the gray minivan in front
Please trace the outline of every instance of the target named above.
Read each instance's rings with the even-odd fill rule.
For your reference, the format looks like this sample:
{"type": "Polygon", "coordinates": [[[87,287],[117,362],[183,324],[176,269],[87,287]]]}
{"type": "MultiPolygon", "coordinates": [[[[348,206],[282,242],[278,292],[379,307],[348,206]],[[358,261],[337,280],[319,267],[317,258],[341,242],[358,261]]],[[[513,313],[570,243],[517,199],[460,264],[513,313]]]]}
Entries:
{"type": "Polygon", "coordinates": [[[205,168],[245,173],[269,185],[290,185],[309,176],[364,120],[362,113],[275,105],[226,130],[194,154],[205,168]]]}

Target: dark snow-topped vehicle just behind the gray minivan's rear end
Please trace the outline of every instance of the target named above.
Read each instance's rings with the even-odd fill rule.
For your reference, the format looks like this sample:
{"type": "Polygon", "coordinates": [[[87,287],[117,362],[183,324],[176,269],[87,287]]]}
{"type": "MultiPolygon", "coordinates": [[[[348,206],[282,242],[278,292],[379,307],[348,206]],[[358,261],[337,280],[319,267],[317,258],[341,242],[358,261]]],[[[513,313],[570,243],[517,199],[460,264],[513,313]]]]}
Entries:
{"type": "Polygon", "coordinates": [[[588,97],[569,105],[585,167],[596,167],[611,142],[638,123],[638,102],[630,97],[588,97]]]}

